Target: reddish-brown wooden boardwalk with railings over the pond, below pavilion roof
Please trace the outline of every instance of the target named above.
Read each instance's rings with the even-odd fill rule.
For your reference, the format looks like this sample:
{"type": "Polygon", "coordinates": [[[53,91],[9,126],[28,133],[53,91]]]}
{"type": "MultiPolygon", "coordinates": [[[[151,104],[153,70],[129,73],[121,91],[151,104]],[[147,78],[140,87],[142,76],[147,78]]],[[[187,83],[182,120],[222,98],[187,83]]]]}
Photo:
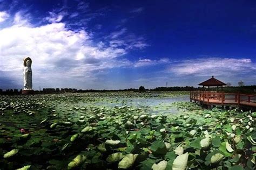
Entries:
{"type": "Polygon", "coordinates": [[[211,91],[190,91],[190,101],[200,104],[256,108],[256,95],[217,93],[211,91]]]}

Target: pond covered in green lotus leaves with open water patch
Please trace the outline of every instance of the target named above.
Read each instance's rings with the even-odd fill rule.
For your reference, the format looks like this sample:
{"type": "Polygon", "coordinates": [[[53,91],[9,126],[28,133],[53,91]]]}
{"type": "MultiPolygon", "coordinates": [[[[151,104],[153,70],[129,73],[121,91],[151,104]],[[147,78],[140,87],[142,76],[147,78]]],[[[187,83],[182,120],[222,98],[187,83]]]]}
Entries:
{"type": "Polygon", "coordinates": [[[0,169],[254,169],[256,112],[187,93],[0,96],[0,169]]]}

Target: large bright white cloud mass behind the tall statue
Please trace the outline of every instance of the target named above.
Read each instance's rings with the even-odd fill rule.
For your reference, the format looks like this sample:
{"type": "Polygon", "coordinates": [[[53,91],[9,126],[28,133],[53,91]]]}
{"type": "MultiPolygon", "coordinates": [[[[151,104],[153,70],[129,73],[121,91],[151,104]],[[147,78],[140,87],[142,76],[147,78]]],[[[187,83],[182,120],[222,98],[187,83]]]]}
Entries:
{"type": "Polygon", "coordinates": [[[33,26],[21,13],[16,13],[14,25],[0,29],[0,39],[1,71],[21,88],[25,56],[32,58],[36,87],[69,87],[75,81],[96,80],[98,70],[132,64],[117,59],[127,53],[124,48],[94,45],[88,32],[71,31],[61,22],[33,26]]]}

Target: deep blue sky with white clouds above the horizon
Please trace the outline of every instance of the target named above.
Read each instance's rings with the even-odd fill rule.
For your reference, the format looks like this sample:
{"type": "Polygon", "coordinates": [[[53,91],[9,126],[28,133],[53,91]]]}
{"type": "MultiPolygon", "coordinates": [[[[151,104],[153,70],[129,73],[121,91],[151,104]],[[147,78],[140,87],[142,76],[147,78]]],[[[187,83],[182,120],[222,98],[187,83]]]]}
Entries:
{"type": "Polygon", "coordinates": [[[0,88],[256,84],[256,1],[0,0],[0,88]]]}

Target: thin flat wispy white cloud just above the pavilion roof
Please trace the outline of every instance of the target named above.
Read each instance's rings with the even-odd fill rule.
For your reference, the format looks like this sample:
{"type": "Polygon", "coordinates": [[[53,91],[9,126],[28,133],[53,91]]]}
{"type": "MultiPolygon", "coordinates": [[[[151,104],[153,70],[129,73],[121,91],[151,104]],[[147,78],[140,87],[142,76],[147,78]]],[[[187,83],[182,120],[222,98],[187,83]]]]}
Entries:
{"type": "Polygon", "coordinates": [[[256,64],[245,58],[200,58],[173,63],[170,71],[177,75],[231,76],[255,72],[256,64]]]}

